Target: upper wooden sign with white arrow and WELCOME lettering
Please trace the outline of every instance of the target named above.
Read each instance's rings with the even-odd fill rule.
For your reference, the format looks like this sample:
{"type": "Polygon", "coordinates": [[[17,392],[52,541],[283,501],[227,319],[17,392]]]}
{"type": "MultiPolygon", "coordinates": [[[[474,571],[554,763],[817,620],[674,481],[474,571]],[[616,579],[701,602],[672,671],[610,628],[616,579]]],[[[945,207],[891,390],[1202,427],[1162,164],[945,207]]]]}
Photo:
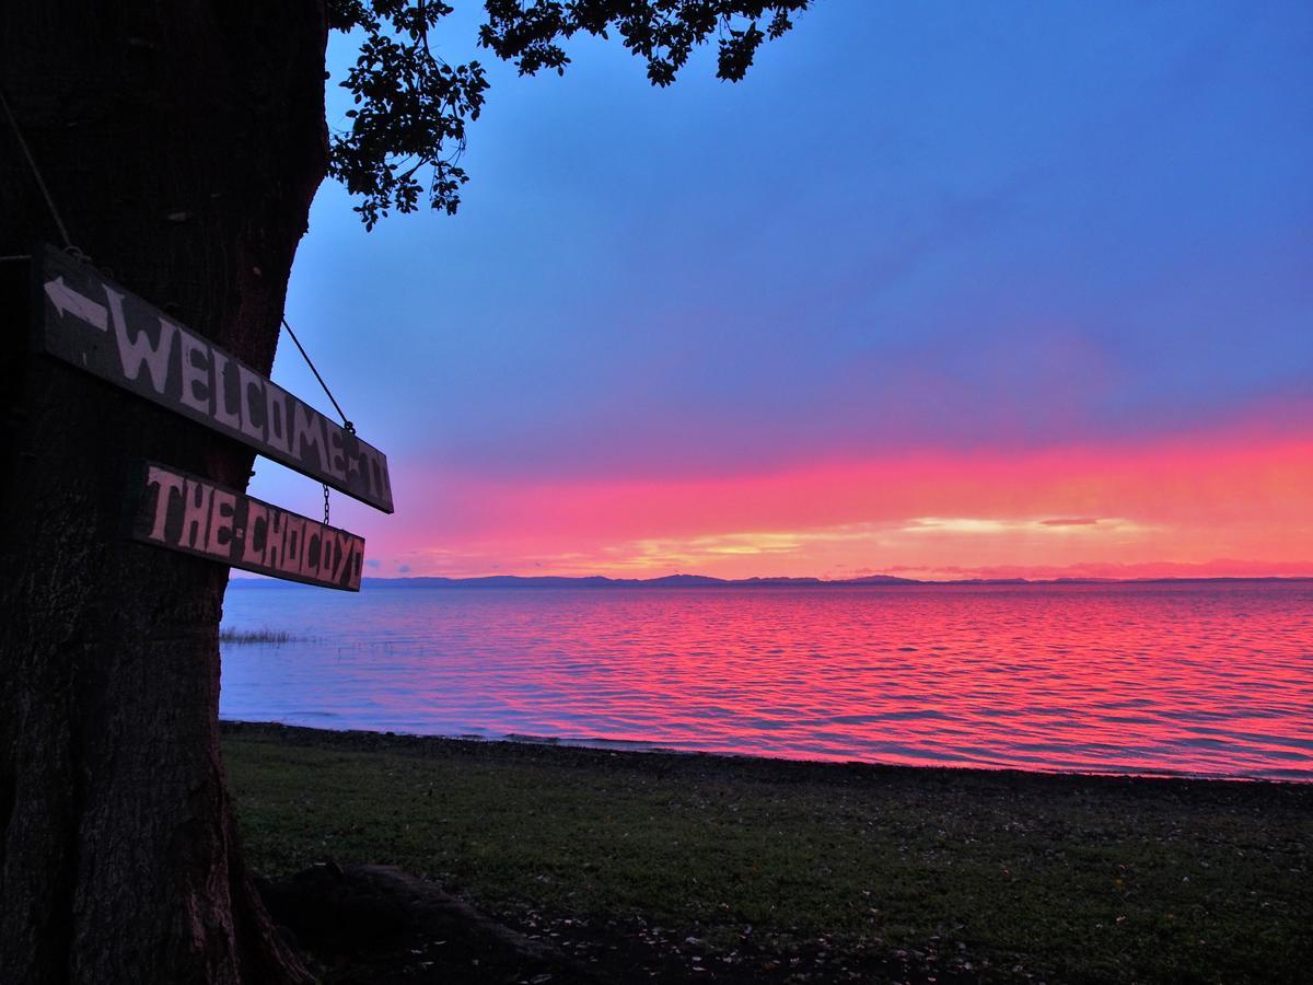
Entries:
{"type": "Polygon", "coordinates": [[[393,512],[377,448],[85,264],[50,246],[35,259],[46,352],[393,512]]]}

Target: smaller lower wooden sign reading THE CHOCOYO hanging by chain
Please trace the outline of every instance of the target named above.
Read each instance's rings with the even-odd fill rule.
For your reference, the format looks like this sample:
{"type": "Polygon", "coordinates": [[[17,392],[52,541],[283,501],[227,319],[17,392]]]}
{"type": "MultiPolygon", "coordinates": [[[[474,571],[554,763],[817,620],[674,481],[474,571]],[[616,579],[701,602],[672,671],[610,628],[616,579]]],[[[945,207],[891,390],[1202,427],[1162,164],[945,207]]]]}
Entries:
{"type": "Polygon", "coordinates": [[[155,462],[139,470],[134,486],[134,540],[291,582],[360,591],[364,537],[155,462]]]}

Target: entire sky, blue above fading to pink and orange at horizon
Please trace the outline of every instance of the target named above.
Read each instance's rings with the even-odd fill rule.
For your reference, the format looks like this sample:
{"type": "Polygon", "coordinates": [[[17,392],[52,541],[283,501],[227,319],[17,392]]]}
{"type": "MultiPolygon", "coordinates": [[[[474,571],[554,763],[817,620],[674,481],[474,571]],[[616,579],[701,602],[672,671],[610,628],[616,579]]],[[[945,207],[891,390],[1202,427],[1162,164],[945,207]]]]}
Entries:
{"type": "Polygon", "coordinates": [[[1313,5],[819,0],[668,89],[453,5],[460,214],[326,183],[289,289],[366,574],[1313,575],[1313,5]]]}

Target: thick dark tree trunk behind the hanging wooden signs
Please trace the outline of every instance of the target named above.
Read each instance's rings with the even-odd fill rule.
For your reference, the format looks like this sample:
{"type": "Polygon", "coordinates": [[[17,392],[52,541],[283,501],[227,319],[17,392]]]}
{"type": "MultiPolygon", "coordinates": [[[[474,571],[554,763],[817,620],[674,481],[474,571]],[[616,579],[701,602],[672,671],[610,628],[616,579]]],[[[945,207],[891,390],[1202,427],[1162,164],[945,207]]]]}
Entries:
{"type": "MultiPolygon", "coordinates": [[[[0,1],[0,87],[72,242],[268,372],[323,177],[319,0],[0,1]]],[[[0,255],[63,246],[0,113],[0,255]]],[[[0,261],[0,981],[303,980],[219,759],[227,569],[129,542],[131,464],[252,453],[28,349],[0,261]]]]}

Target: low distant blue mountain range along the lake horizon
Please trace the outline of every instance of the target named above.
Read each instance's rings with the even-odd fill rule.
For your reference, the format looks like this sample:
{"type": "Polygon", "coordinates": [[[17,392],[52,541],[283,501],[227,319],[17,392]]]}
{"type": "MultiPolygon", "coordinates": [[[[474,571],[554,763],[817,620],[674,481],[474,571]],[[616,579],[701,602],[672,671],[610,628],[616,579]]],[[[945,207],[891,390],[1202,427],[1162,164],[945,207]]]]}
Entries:
{"type": "MultiPolygon", "coordinates": [[[[362,584],[390,588],[855,588],[899,584],[1182,584],[1220,582],[1308,582],[1313,578],[964,578],[956,582],[926,582],[893,575],[864,578],[712,578],[710,575],[664,575],[662,578],[607,578],[587,575],[486,575],[483,578],[365,578],[362,584]]],[[[246,584],[286,586],[272,578],[235,578],[246,584]]]]}

